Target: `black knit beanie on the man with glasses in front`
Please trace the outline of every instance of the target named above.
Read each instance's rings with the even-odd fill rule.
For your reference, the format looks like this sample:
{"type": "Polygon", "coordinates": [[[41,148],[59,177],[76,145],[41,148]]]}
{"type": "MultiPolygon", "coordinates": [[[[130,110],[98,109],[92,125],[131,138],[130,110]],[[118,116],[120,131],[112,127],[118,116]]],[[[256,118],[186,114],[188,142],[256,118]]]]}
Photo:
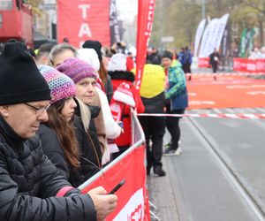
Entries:
{"type": "Polygon", "coordinates": [[[4,44],[0,55],[0,105],[50,100],[49,85],[22,42],[4,44]]]}

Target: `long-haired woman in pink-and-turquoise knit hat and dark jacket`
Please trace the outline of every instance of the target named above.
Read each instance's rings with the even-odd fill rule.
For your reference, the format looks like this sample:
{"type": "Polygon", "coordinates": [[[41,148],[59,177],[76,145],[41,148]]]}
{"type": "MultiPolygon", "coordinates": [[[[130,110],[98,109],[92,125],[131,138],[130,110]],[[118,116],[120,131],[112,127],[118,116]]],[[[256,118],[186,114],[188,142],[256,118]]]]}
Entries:
{"type": "Polygon", "coordinates": [[[51,90],[49,119],[40,126],[39,134],[44,153],[57,166],[73,187],[87,181],[101,167],[99,142],[88,140],[79,118],[73,118],[77,108],[76,87],[64,73],[47,65],[39,70],[51,90]],[[97,151],[96,151],[97,150],[97,151]]]}

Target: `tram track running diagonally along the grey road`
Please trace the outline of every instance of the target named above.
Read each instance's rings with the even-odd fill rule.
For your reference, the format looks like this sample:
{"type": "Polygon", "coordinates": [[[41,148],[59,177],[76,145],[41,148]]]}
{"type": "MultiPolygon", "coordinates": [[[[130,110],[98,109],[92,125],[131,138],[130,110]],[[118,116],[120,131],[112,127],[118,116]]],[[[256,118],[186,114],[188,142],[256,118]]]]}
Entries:
{"type": "Polygon", "coordinates": [[[216,141],[208,134],[208,131],[194,118],[188,118],[187,124],[201,141],[203,146],[214,156],[216,162],[238,191],[242,200],[246,202],[250,210],[254,212],[258,220],[265,220],[265,207],[254,191],[248,187],[246,180],[242,179],[237,169],[231,164],[226,154],[217,147],[216,141]]]}

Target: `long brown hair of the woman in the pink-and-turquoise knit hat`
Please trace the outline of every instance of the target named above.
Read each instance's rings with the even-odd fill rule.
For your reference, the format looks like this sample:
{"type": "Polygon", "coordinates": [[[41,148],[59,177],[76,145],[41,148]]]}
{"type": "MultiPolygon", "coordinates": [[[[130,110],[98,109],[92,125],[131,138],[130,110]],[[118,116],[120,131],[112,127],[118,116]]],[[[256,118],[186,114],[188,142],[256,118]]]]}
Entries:
{"type": "Polygon", "coordinates": [[[79,148],[76,140],[74,127],[69,124],[61,114],[64,108],[65,99],[50,105],[48,109],[49,120],[46,124],[57,133],[57,138],[64,151],[68,164],[73,169],[79,167],[79,148]]]}

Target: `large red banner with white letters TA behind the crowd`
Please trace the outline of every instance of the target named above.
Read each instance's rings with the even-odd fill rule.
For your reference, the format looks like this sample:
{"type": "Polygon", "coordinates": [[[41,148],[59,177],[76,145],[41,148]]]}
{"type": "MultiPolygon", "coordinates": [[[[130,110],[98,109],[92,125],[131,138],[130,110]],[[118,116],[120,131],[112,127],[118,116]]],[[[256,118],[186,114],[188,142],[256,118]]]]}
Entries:
{"type": "Polygon", "coordinates": [[[75,47],[87,40],[110,46],[109,0],[57,0],[57,41],[75,47]]]}

